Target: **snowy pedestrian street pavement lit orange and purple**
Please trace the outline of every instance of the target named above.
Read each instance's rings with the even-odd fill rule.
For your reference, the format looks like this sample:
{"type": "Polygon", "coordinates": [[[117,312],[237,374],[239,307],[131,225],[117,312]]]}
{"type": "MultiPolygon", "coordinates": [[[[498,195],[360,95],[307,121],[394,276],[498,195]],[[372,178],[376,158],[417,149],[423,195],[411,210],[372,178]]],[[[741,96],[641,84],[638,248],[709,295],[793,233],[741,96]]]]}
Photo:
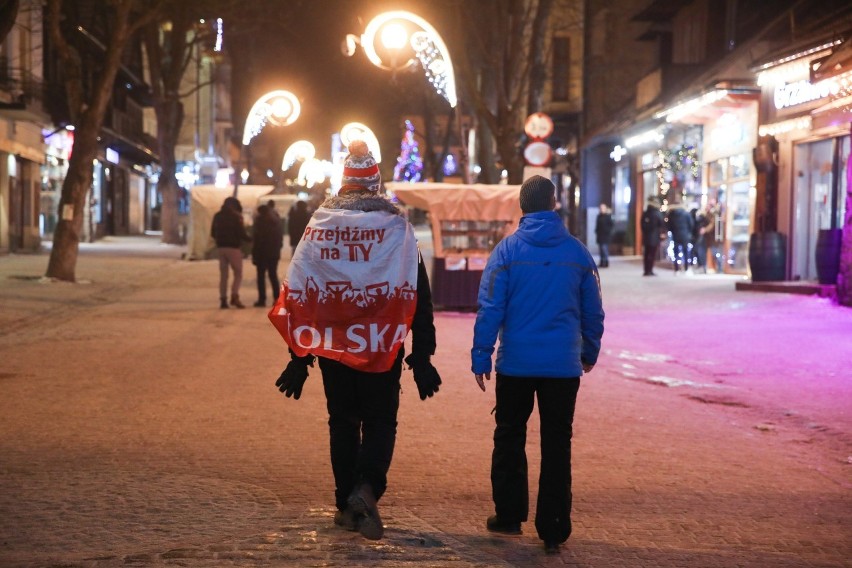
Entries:
{"type": "MultiPolygon", "coordinates": [[[[370,542],[331,520],[318,372],[278,393],[265,311],[219,310],[216,263],[181,252],[84,245],[78,284],[0,257],[0,566],[852,566],[852,310],[615,259],[557,556],[532,522],[484,530],[493,384],[469,372],[473,314],[438,312],[444,384],[420,401],[403,374],[370,542]]],[[[528,438],[534,496],[535,418],[528,438]]]]}

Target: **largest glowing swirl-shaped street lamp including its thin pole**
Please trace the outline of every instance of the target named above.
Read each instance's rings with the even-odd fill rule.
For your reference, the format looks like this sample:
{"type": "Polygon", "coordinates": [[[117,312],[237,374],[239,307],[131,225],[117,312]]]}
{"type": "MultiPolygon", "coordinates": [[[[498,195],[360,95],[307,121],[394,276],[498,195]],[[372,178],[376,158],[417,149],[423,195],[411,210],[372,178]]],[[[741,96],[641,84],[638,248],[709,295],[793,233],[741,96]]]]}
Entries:
{"type": "Polygon", "coordinates": [[[394,73],[420,63],[426,79],[435,92],[455,109],[456,128],[461,147],[459,162],[462,176],[467,183],[467,149],[461,127],[461,110],[456,96],[455,71],[450,52],[438,31],[417,14],[395,10],[379,14],[370,20],[360,37],[348,34],[344,41],[343,53],[347,56],[354,55],[358,44],[373,65],[394,73]],[[413,31],[409,33],[412,28],[413,31]],[[379,56],[376,49],[377,40],[380,40],[381,45],[390,54],[390,64],[385,63],[379,56]],[[406,47],[409,47],[411,51],[403,55],[405,59],[400,63],[397,58],[406,47]]]}

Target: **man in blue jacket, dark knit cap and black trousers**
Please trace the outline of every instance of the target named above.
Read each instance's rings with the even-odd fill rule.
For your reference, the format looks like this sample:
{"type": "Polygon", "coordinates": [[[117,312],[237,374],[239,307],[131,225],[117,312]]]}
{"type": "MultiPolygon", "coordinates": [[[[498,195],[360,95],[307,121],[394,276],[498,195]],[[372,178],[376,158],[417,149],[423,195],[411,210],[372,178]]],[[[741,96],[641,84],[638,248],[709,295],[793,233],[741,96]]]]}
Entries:
{"type": "Polygon", "coordinates": [[[471,350],[479,388],[497,349],[497,426],[491,461],[496,514],[489,531],[521,534],[527,520],[527,420],[538,398],[541,474],[535,527],[548,553],[571,534],[571,435],[580,375],[595,366],[603,335],[600,281],[591,254],[554,212],[555,187],[521,186],[518,230],[491,253],[479,285],[471,350]]]}

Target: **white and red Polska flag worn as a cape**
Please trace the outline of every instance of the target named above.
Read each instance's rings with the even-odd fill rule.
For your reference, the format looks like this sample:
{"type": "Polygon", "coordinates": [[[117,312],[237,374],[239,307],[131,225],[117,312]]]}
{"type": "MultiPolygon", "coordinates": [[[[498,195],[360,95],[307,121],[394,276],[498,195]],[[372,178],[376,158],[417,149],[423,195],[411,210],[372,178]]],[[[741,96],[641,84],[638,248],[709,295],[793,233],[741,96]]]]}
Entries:
{"type": "Polygon", "coordinates": [[[387,371],[414,319],[418,255],[414,230],[399,215],[321,207],[269,320],[300,357],[387,371]]]}

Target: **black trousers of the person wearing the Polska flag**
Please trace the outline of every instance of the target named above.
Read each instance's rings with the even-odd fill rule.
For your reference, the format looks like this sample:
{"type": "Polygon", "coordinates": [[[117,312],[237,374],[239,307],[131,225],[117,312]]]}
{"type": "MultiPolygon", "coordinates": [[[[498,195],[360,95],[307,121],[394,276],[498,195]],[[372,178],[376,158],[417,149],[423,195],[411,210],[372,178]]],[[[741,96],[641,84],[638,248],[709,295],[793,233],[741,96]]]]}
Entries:
{"type": "Polygon", "coordinates": [[[356,371],[319,358],[331,440],[331,469],[337,508],[346,508],[352,490],[369,483],[381,498],[396,442],[402,351],[384,373],[356,371]]]}

